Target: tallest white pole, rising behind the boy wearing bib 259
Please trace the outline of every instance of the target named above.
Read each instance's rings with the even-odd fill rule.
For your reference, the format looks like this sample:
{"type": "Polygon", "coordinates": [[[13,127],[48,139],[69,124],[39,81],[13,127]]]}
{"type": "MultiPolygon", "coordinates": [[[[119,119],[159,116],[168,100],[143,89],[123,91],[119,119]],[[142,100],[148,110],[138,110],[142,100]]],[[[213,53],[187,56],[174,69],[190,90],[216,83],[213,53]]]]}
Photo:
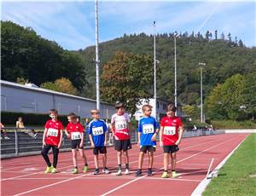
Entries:
{"type": "Polygon", "coordinates": [[[100,109],[100,78],[99,78],[99,50],[98,50],[98,3],[95,1],[95,14],[96,14],[96,108],[100,109]]]}

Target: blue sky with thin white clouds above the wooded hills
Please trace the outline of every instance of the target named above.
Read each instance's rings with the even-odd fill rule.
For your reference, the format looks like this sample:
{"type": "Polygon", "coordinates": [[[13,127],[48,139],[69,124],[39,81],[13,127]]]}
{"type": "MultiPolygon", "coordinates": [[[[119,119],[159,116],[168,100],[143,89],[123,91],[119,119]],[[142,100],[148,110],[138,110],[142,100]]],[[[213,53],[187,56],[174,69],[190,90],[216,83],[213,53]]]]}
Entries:
{"type": "MultiPolygon", "coordinates": [[[[107,1],[98,2],[99,42],[144,32],[221,32],[247,47],[256,46],[256,1],[107,1]]],[[[29,26],[63,49],[95,45],[95,1],[2,0],[1,20],[29,26]]]]}

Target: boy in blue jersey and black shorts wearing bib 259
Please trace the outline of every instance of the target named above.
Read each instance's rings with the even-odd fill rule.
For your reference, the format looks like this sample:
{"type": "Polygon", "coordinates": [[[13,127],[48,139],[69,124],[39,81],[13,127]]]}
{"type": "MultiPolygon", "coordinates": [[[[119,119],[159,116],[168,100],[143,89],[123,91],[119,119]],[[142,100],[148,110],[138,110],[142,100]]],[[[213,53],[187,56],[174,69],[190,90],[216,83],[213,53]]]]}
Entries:
{"type": "Polygon", "coordinates": [[[94,171],[94,175],[98,175],[100,173],[99,170],[99,153],[102,153],[102,162],[103,162],[103,170],[102,172],[105,174],[109,174],[107,164],[107,126],[104,120],[100,119],[100,111],[97,109],[90,111],[91,116],[93,118],[90,121],[88,134],[90,138],[91,147],[93,147],[94,154],[94,163],[96,170],[94,171]]]}

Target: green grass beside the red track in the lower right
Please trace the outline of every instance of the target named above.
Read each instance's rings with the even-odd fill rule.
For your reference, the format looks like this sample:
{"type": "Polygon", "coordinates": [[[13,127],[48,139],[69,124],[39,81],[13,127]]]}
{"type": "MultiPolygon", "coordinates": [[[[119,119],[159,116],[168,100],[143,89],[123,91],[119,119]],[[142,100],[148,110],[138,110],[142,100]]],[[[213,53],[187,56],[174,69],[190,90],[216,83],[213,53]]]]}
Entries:
{"type": "Polygon", "coordinates": [[[256,177],[250,175],[256,175],[256,134],[236,149],[203,195],[256,195],[256,177]]]}

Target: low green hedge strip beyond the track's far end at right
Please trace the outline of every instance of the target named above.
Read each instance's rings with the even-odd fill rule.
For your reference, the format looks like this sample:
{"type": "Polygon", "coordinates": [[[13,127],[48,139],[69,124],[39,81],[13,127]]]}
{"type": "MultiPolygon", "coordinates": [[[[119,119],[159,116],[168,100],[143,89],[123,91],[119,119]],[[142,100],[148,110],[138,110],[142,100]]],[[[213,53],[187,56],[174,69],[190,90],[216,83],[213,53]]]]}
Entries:
{"type": "Polygon", "coordinates": [[[256,129],[256,122],[251,120],[232,121],[232,120],[212,120],[212,125],[217,129],[256,129]]]}

